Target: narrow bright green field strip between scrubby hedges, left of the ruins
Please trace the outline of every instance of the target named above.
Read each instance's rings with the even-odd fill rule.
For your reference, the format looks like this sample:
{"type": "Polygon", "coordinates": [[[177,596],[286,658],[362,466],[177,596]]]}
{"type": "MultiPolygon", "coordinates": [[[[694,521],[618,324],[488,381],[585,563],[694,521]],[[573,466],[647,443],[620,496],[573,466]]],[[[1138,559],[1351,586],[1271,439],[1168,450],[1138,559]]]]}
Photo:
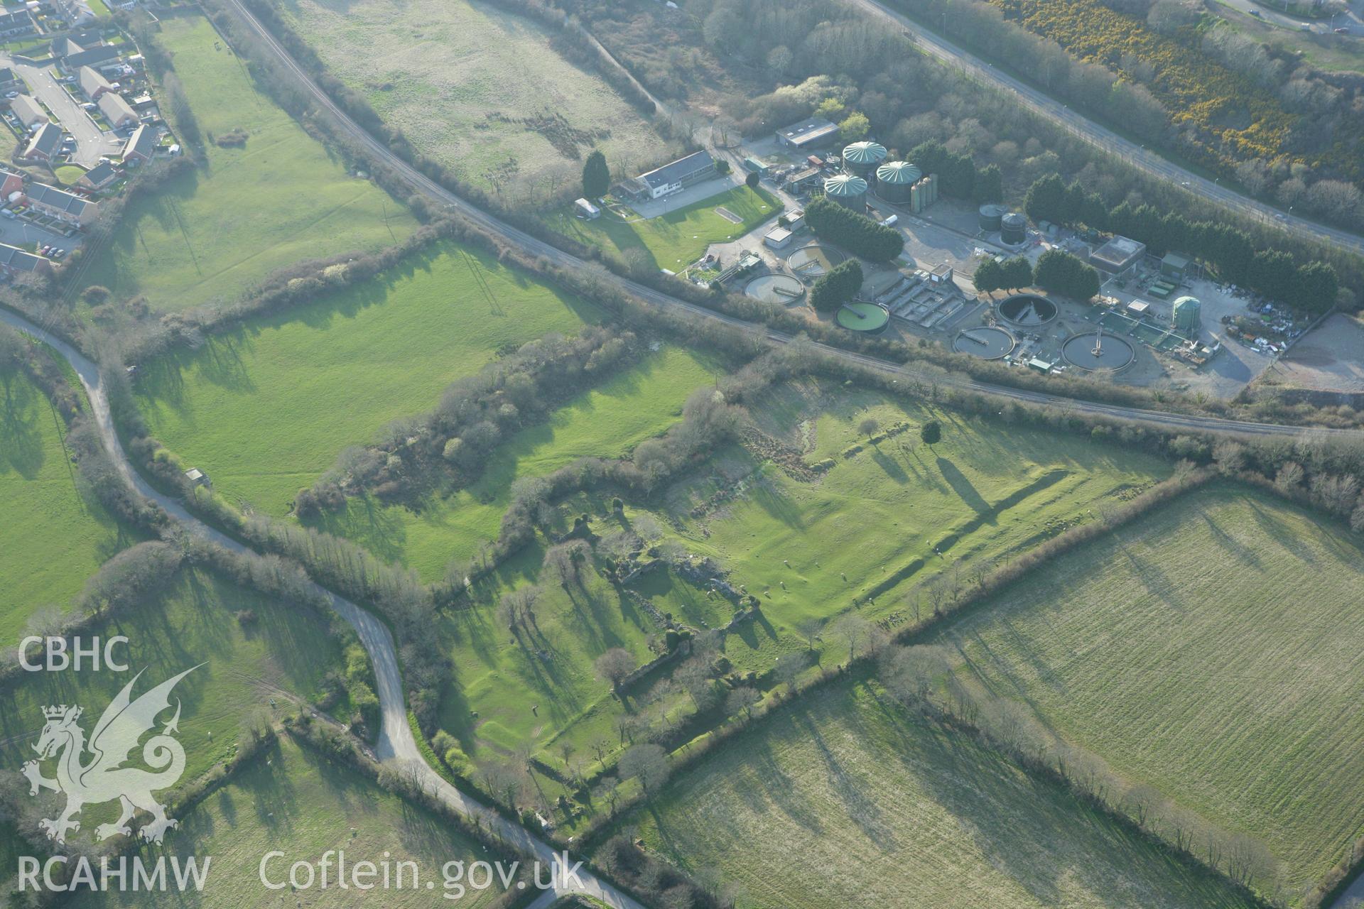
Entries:
{"type": "Polygon", "coordinates": [[[352,499],[345,511],[310,523],[404,563],[423,581],[436,581],[451,559],[469,559],[480,544],[498,536],[516,480],[543,477],[578,458],[626,454],[667,429],[687,395],[711,380],[701,358],[670,346],[578,395],[548,421],[516,433],[465,489],[432,496],[420,511],[352,499]]]}

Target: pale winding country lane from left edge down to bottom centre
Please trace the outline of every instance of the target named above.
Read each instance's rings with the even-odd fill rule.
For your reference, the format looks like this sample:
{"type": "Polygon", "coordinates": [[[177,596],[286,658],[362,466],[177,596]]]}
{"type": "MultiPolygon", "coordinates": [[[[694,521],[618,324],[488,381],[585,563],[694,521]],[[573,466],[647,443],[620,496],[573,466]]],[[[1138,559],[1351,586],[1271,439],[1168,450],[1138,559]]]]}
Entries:
{"type": "MultiPolygon", "coordinates": [[[[246,544],[210,527],[190,514],[190,511],[180,504],[179,499],[157,492],[136,470],[134,470],[132,463],[123,451],[123,443],[119,440],[119,433],[115,431],[113,417],[109,413],[109,399],[104,391],[100,369],[94,363],[61,338],[40,328],[18,313],[8,309],[0,309],[0,322],[50,345],[65,358],[67,363],[71,364],[71,368],[75,369],[76,376],[80,379],[80,384],[85,386],[86,394],[90,398],[90,412],[95,421],[95,427],[100,431],[100,439],[104,442],[105,450],[109,452],[109,457],[117,466],[119,473],[130,487],[132,487],[139,495],[151,499],[158,506],[165,508],[172,518],[175,518],[186,530],[196,537],[216,542],[233,552],[251,552],[246,544]]],[[[421,774],[421,781],[426,788],[430,792],[434,792],[441,801],[451,810],[460,812],[465,818],[480,820],[486,829],[495,831],[502,839],[512,844],[513,848],[539,860],[542,867],[546,869],[561,868],[562,853],[557,853],[548,844],[531,835],[531,833],[521,825],[507,820],[483,803],[464,795],[446,782],[426,763],[421,758],[421,752],[417,750],[416,739],[412,736],[412,728],[408,725],[408,709],[402,696],[402,675],[398,671],[398,656],[393,646],[393,635],[389,632],[387,626],[379,621],[379,619],[376,619],[372,613],[361,609],[344,597],[338,597],[326,587],[316,583],[312,586],[327,597],[337,615],[345,619],[351,627],[355,628],[356,634],[360,636],[360,643],[364,645],[366,651],[370,654],[370,662],[374,665],[374,676],[378,683],[379,707],[383,720],[383,728],[379,732],[379,743],[376,747],[379,758],[397,759],[413,766],[417,773],[421,774]]],[[[570,859],[570,865],[573,861],[574,860],[570,859]]],[[[543,874],[544,876],[548,876],[547,871],[543,874]]],[[[558,874],[555,874],[555,880],[561,880],[558,874]]],[[[544,906],[552,904],[558,897],[572,893],[588,894],[608,906],[615,906],[615,909],[644,909],[644,906],[638,902],[625,895],[607,882],[589,874],[587,869],[578,869],[577,880],[562,880],[558,889],[546,890],[544,894],[537,898],[535,904],[532,904],[533,909],[544,909],[544,906]]]]}

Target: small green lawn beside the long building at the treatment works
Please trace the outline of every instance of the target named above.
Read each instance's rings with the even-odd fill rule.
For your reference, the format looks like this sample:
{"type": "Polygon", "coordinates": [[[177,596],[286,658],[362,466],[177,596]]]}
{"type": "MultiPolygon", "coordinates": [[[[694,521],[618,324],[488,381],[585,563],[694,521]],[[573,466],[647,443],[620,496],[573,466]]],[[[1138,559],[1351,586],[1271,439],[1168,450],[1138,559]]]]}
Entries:
{"type": "Polygon", "coordinates": [[[677,271],[705,255],[712,243],[741,237],[780,209],[782,203],[767,189],[734,187],[657,218],[622,221],[615,213],[607,211],[596,221],[552,214],[547,215],[547,224],[566,237],[611,252],[644,249],[655,266],[677,271]],[[728,210],[742,218],[743,224],[734,224],[716,214],[716,209],[728,210]]]}

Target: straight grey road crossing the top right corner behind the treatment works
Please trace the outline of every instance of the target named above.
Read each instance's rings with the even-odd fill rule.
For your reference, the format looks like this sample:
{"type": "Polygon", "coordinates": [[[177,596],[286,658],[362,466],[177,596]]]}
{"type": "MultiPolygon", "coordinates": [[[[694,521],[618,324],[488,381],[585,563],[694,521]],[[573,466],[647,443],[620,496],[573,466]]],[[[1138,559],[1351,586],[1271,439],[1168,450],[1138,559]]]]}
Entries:
{"type": "Polygon", "coordinates": [[[1053,120],[1071,135],[1084,139],[1091,146],[1123,158],[1128,164],[1140,168],[1153,177],[1183,185],[1189,192],[1211,199],[1222,206],[1226,206],[1228,209],[1232,209],[1233,211],[1239,211],[1243,215],[1266,222],[1274,221],[1278,226],[1299,236],[1330,243],[1331,245],[1349,249],[1350,252],[1364,252],[1364,237],[1360,234],[1350,233],[1349,230],[1341,230],[1338,228],[1329,228],[1309,218],[1303,218],[1301,215],[1284,214],[1278,209],[1256,202],[1249,196],[1244,196],[1236,189],[1222,185],[1217,180],[1209,180],[1207,177],[1200,177],[1192,170],[1185,170],[1180,165],[1162,158],[1146,146],[1132,142],[1131,139],[1124,139],[1112,129],[1101,127],[1084,114],[1078,110],[1072,110],[1068,105],[1052,98],[1046,93],[1001,72],[998,67],[986,63],[960,45],[956,45],[938,34],[926,31],[908,16],[896,12],[889,5],[880,3],[878,0],[846,1],[859,7],[874,18],[889,22],[898,29],[904,29],[913,33],[918,41],[918,46],[922,48],[925,53],[959,68],[975,82],[1003,90],[1008,95],[1018,99],[1018,102],[1028,110],[1053,120]]]}

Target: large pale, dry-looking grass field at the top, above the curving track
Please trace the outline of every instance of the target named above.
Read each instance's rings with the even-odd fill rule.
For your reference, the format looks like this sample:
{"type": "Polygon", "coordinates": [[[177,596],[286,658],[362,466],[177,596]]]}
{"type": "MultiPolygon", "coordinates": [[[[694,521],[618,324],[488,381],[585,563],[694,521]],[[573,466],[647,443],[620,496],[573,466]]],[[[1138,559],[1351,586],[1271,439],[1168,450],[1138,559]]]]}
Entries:
{"type": "Polygon", "coordinates": [[[466,0],[281,4],[323,63],[461,180],[520,199],[576,183],[600,147],[638,173],[664,143],[539,23],[466,0]]]}

